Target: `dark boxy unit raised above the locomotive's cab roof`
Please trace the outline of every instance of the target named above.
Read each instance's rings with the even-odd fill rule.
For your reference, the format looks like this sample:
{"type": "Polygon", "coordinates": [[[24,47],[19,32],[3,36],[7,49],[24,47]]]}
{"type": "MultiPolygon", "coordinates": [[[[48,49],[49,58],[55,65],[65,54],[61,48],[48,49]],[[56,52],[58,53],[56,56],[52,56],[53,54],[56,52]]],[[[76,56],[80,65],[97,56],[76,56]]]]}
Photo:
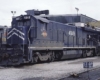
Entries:
{"type": "Polygon", "coordinates": [[[42,11],[38,11],[38,10],[27,10],[25,11],[28,15],[41,15],[41,14],[45,14],[48,15],[49,14],[49,10],[42,10],[42,11]]]}

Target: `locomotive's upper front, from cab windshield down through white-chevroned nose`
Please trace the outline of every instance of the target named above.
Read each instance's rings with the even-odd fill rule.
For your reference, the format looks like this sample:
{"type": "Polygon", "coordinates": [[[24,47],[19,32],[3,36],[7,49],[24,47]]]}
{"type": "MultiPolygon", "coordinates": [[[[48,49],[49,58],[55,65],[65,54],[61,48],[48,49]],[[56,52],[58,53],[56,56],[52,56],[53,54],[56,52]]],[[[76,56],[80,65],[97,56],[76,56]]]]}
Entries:
{"type": "Polygon", "coordinates": [[[27,44],[26,37],[31,25],[30,16],[19,16],[13,19],[12,28],[8,31],[7,41],[9,44],[27,44]],[[14,39],[17,40],[14,40],[14,39]]]}

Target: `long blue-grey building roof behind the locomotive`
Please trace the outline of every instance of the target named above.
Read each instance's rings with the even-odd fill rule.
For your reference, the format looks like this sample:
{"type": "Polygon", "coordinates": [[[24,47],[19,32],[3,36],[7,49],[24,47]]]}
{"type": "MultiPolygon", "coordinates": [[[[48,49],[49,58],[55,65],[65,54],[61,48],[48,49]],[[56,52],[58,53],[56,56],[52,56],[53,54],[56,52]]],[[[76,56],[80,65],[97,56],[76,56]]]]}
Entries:
{"type": "Polygon", "coordinates": [[[41,17],[44,17],[48,20],[61,22],[61,23],[74,23],[74,22],[93,22],[97,21],[96,19],[93,19],[89,16],[83,15],[83,14],[65,14],[65,15],[40,15],[41,17]]]}

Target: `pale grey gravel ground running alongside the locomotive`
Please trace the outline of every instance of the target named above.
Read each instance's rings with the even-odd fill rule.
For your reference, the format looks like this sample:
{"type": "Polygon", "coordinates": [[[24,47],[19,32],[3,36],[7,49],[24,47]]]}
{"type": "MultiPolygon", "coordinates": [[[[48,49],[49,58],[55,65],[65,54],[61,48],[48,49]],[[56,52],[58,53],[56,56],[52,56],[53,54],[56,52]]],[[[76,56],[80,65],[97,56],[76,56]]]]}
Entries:
{"type": "Polygon", "coordinates": [[[86,71],[86,69],[83,68],[83,62],[86,61],[93,61],[94,68],[100,67],[100,57],[63,60],[27,66],[23,65],[16,68],[1,67],[0,80],[58,80],[67,77],[72,73],[86,71]]]}

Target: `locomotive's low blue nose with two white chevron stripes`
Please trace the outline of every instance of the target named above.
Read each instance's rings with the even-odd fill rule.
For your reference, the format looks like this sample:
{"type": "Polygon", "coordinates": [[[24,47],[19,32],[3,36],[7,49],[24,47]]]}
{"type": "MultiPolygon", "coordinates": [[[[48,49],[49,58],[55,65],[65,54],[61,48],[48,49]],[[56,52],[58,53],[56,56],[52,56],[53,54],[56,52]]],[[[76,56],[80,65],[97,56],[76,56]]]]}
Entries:
{"type": "Polygon", "coordinates": [[[18,27],[11,28],[7,34],[8,44],[25,44],[26,43],[26,28],[18,27]]]}

